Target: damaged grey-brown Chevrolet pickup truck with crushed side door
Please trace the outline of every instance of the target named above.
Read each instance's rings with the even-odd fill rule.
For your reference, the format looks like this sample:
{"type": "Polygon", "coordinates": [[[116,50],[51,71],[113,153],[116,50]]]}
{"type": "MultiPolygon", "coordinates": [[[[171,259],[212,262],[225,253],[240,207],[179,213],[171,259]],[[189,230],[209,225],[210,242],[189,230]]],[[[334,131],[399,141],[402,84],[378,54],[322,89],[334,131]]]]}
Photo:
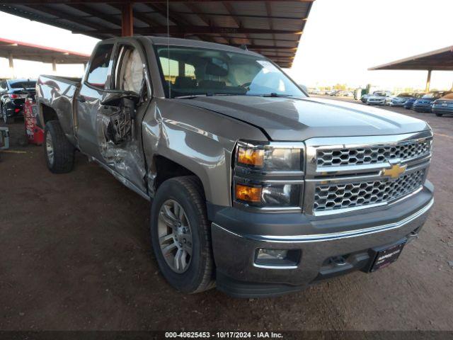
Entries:
{"type": "Polygon", "coordinates": [[[395,261],[433,200],[432,131],[309,98],[257,53],[154,37],[99,42],[82,79],[37,84],[50,171],[79,150],[152,202],[177,290],[278,295],[395,261]]]}

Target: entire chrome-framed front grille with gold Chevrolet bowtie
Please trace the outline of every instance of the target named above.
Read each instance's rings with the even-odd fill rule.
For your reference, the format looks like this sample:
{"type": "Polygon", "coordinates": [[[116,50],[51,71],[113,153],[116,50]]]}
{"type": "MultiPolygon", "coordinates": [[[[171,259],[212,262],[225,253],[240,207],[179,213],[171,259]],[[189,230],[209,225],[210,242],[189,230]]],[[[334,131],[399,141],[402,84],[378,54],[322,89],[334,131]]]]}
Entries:
{"type": "Polygon", "coordinates": [[[432,132],[306,140],[304,212],[331,215],[389,205],[423,188],[432,132]]]}

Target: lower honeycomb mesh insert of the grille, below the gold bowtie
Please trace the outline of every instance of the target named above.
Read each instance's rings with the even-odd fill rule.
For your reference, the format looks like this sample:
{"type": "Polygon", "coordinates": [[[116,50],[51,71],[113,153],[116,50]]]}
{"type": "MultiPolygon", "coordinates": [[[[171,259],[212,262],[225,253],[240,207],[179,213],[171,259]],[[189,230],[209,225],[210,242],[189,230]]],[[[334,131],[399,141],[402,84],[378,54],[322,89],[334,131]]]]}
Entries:
{"type": "Polygon", "coordinates": [[[357,207],[374,203],[391,202],[423,186],[425,170],[404,174],[397,179],[353,181],[317,185],[314,208],[317,211],[357,207]]]}

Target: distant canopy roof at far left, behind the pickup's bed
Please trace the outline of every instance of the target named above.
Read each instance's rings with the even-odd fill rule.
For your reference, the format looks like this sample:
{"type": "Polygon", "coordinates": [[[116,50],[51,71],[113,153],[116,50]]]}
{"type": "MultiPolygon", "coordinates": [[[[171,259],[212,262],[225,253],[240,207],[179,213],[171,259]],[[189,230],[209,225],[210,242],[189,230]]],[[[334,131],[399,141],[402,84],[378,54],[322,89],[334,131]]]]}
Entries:
{"type": "Polygon", "coordinates": [[[82,64],[89,55],[0,38],[0,57],[57,64],[82,64]]]}

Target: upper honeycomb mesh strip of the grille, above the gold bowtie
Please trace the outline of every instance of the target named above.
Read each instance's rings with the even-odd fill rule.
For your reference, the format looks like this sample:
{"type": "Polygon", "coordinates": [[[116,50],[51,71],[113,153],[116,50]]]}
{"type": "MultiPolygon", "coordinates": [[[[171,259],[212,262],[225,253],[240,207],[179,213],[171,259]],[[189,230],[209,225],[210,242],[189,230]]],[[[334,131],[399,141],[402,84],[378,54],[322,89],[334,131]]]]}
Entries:
{"type": "Polygon", "coordinates": [[[319,149],[316,164],[324,166],[343,166],[377,164],[391,159],[408,159],[427,156],[431,152],[431,140],[413,141],[403,145],[382,147],[361,147],[342,149],[319,149]]]}

